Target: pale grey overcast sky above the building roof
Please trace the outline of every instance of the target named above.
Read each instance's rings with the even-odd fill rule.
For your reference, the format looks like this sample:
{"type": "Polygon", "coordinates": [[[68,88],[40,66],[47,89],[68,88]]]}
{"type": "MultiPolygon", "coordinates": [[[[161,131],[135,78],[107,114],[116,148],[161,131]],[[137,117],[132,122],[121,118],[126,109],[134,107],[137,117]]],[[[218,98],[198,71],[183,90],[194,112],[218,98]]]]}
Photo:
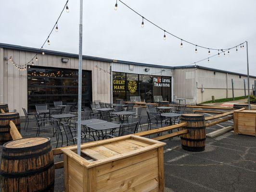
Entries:
{"type": "MultiPolygon", "coordinates": [[[[40,48],[66,0],[0,0],[0,42],[40,48]]],[[[123,0],[166,31],[212,48],[249,45],[250,74],[256,75],[256,0],[123,0]]],[[[78,53],[79,0],[69,0],[45,49],[78,53]]],[[[84,0],[83,54],[167,66],[208,57],[207,50],[168,36],[115,0],[84,0]]],[[[213,54],[213,53],[212,53],[213,54]]],[[[199,65],[246,73],[246,49],[199,65]]]]}

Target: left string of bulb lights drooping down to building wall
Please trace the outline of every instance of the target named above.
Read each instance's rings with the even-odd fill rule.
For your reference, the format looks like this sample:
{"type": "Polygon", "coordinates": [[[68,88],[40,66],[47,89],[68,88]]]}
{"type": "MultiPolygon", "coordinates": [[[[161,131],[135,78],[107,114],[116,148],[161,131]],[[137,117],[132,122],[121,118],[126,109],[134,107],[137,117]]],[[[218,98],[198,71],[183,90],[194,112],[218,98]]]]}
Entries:
{"type": "MultiPolygon", "coordinates": [[[[39,53],[42,53],[42,55],[45,54],[43,47],[44,47],[44,45],[46,44],[46,42],[47,42],[48,45],[51,44],[51,43],[50,43],[50,36],[51,36],[53,30],[55,29],[56,32],[59,31],[58,21],[59,21],[61,15],[62,15],[62,13],[64,12],[65,9],[66,9],[66,12],[69,12],[69,8],[68,8],[67,3],[68,3],[68,0],[67,0],[66,3],[64,4],[64,7],[63,7],[63,9],[62,9],[62,11],[61,11],[61,13],[60,13],[60,15],[59,15],[57,21],[56,21],[55,24],[53,25],[53,27],[52,27],[52,29],[51,29],[51,32],[50,32],[49,35],[47,36],[47,38],[46,38],[46,40],[44,41],[43,45],[42,45],[41,48],[38,50],[38,52],[35,54],[35,56],[32,57],[31,60],[29,60],[29,61],[28,61],[26,64],[24,64],[24,65],[20,65],[20,64],[16,63],[16,62],[13,60],[13,57],[12,57],[12,56],[9,58],[9,60],[11,61],[11,63],[13,63],[13,66],[15,67],[15,69],[18,69],[18,70],[20,70],[20,71],[24,71],[24,70],[26,70],[26,66],[27,66],[27,65],[34,65],[34,60],[38,61],[38,54],[39,54],[39,53]]],[[[7,62],[8,62],[8,61],[7,61],[7,62]]],[[[28,68],[30,68],[30,66],[28,66],[28,68]]]]}

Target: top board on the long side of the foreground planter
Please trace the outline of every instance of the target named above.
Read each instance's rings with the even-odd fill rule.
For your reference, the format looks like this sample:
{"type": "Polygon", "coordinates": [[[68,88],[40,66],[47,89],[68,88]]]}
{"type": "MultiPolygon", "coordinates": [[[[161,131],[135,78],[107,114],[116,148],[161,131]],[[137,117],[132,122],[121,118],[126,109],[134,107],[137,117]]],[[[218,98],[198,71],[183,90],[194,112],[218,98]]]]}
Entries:
{"type": "Polygon", "coordinates": [[[120,159],[120,160],[117,160],[117,161],[102,164],[101,166],[96,167],[96,175],[98,177],[98,176],[101,176],[103,174],[110,173],[112,171],[115,171],[115,170],[118,170],[118,169],[121,169],[121,168],[125,168],[125,167],[128,167],[128,166],[134,165],[138,162],[145,161],[147,159],[151,159],[151,158],[154,158],[154,157],[157,157],[157,156],[158,156],[157,155],[157,149],[153,149],[151,151],[147,151],[147,152],[141,153],[141,154],[136,155],[136,156],[130,156],[130,157],[125,158],[125,159],[120,159]]]}

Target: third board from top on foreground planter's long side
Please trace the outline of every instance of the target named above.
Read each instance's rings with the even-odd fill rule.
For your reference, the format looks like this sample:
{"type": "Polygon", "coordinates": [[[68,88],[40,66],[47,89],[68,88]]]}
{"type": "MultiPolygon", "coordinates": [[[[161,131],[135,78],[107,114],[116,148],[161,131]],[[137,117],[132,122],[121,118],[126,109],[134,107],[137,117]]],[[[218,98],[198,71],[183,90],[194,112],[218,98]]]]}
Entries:
{"type": "Polygon", "coordinates": [[[100,188],[97,192],[126,192],[127,190],[140,185],[142,182],[153,180],[158,176],[158,167],[147,169],[137,174],[123,174],[115,183],[110,183],[104,188],[100,188]]]}

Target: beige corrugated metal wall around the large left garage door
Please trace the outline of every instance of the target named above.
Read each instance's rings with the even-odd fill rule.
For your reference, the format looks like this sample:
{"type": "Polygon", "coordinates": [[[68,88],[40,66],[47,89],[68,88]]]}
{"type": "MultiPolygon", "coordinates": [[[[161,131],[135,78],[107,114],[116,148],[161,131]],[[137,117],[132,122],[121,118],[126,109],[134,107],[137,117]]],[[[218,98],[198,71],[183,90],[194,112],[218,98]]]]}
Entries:
{"type": "MultiPolygon", "coordinates": [[[[13,64],[7,65],[4,57],[12,56],[16,63],[24,64],[34,55],[34,52],[0,48],[0,103],[8,103],[10,111],[16,109],[22,115],[22,108],[27,108],[27,72],[14,69],[13,64]]],[[[38,61],[34,63],[45,67],[78,69],[78,58],[50,54],[38,54],[38,61]],[[69,61],[64,63],[62,58],[68,58],[69,61]]],[[[109,62],[83,60],[82,69],[92,71],[92,100],[110,102],[110,74],[100,72],[95,68],[96,65],[110,71],[109,62]]]]}

